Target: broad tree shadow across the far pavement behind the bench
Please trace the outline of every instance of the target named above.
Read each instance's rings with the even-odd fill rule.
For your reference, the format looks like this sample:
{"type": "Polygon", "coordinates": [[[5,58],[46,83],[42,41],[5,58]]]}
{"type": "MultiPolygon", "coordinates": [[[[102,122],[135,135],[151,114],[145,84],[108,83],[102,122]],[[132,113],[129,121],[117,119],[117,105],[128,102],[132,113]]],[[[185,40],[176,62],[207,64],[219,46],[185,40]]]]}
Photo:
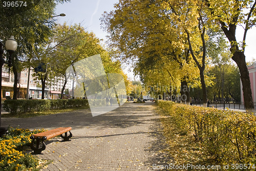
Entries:
{"type": "Polygon", "coordinates": [[[71,126],[73,130],[83,127],[98,127],[98,129],[130,127],[146,123],[147,117],[151,115],[147,115],[147,110],[145,108],[140,109],[140,106],[152,104],[154,105],[154,103],[124,103],[116,110],[95,117],[92,117],[90,109],[83,109],[31,118],[2,118],[2,126],[22,127],[24,129],[51,129],[71,126]]]}

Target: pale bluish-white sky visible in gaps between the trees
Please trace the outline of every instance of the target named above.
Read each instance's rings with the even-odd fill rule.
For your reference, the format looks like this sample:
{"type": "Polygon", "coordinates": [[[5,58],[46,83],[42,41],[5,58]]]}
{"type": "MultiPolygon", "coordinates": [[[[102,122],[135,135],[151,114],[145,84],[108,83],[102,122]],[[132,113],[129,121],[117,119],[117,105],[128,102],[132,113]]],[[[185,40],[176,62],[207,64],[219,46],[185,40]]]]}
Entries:
{"type": "MultiPolygon", "coordinates": [[[[115,10],[114,4],[118,3],[118,0],[71,0],[69,3],[59,4],[56,7],[55,13],[65,13],[64,17],[56,17],[57,23],[67,22],[68,25],[82,23],[82,26],[86,28],[86,31],[93,32],[96,37],[106,40],[106,32],[101,29],[100,17],[106,12],[115,10]]],[[[243,29],[237,29],[237,40],[241,41],[243,38],[243,29]]],[[[255,39],[256,39],[256,27],[249,30],[246,37],[247,47],[245,48],[246,61],[256,59],[255,54],[255,39]]],[[[124,72],[134,80],[134,75],[129,71],[129,67],[124,67],[124,72]]],[[[138,78],[136,78],[138,79],[138,78]]]]}

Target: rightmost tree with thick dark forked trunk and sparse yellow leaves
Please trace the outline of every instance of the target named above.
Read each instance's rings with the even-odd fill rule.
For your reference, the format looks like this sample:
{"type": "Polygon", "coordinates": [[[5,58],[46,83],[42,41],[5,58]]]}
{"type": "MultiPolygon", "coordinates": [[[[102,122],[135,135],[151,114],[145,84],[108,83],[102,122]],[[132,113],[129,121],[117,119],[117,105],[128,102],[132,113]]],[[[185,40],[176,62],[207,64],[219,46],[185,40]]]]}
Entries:
{"type": "Polygon", "coordinates": [[[250,77],[245,60],[246,36],[250,28],[256,24],[256,1],[251,0],[205,0],[212,15],[230,42],[232,59],[237,63],[243,85],[245,108],[254,113],[254,105],[250,87],[250,77]],[[241,42],[237,39],[236,30],[243,26],[244,33],[241,42]]]}

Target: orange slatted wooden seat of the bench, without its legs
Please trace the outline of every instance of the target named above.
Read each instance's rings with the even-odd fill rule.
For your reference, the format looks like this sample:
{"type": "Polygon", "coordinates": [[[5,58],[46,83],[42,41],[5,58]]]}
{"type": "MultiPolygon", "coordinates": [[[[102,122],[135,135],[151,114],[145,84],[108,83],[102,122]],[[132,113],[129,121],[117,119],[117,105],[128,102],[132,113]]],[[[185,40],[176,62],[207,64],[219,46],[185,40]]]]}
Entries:
{"type": "Polygon", "coordinates": [[[46,131],[46,132],[43,132],[43,133],[34,134],[32,136],[34,136],[35,138],[37,138],[37,137],[39,137],[39,138],[47,137],[47,139],[50,139],[50,138],[53,138],[53,137],[56,137],[58,135],[64,134],[64,133],[66,133],[68,131],[71,131],[71,130],[72,130],[72,127],[59,127],[57,129],[46,131]]]}

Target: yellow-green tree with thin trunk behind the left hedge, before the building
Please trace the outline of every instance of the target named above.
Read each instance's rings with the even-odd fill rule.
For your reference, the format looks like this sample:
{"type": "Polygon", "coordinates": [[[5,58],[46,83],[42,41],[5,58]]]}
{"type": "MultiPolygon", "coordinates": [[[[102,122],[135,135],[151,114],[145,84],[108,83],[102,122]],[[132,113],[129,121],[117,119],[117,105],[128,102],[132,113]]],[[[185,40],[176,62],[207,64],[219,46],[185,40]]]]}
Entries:
{"type": "Polygon", "coordinates": [[[75,62],[89,56],[100,54],[102,48],[99,39],[93,33],[84,30],[80,24],[68,26],[66,23],[56,26],[54,44],[58,46],[53,52],[54,70],[57,76],[65,79],[61,90],[61,97],[67,83],[66,70],[75,62]]]}

